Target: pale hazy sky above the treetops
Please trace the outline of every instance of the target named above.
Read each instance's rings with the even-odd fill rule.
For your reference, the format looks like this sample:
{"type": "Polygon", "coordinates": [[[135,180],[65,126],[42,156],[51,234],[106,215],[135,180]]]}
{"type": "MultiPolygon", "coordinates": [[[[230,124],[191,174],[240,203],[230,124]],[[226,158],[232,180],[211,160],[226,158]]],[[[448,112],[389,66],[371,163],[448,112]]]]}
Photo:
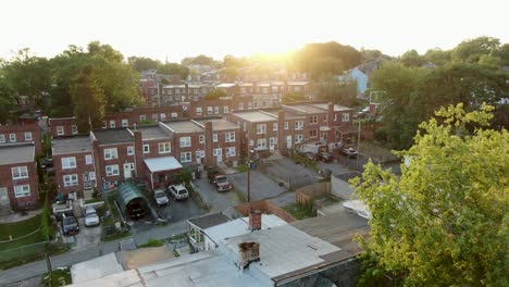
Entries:
{"type": "Polygon", "coordinates": [[[508,0],[1,0],[0,58],[110,43],[125,57],[295,50],[335,40],[398,55],[482,35],[509,42],[508,0]]]}

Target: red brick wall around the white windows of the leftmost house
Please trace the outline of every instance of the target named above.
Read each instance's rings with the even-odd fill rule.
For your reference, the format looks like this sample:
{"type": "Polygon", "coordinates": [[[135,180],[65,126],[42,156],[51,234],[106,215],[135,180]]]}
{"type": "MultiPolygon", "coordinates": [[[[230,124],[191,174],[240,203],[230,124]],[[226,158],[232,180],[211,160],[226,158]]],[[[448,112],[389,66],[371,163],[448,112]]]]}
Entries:
{"type": "Polygon", "coordinates": [[[7,187],[9,194],[9,200],[11,201],[11,207],[23,208],[24,204],[36,208],[39,199],[38,184],[37,184],[37,172],[36,163],[26,162],[26,163],[15,163],[8,165],[0,165],[0,187],[7,187]],[[16,166],[26,166],[28,171],[28,178],[23,179],[12,179],[12,167],[16,166]],[[14,186],[17,185],[29,185],[30,195],[27,197],[15,198],[14,197],[14,186]]]}

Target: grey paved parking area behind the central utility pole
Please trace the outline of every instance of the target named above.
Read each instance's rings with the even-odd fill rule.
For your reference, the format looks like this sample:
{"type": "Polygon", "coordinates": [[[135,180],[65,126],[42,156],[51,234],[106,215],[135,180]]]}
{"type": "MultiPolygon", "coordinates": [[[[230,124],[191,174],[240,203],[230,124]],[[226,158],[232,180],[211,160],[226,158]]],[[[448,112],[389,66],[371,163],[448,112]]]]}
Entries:
{"type": "MultiPolygon", "coordinates": [[[[244,192],[247,199],[247,173],[231,174],[228,177],[232,179],[234,187],[244,192]]],[[[251,171],[250,182],[251,201],[277,197],[286,191],[284,186],[280,186],[278,183],[259,171],[251,171]]]]}

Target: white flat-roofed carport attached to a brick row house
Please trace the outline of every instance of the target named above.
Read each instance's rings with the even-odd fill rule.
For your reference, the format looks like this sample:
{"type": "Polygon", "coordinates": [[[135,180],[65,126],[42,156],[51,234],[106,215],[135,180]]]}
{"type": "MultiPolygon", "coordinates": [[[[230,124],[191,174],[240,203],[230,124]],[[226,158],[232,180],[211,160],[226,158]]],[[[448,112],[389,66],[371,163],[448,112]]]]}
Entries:
{"type": "Polygon", "coordinates": [[[150,172],[150,186],[154,187],[154,183],[159,186],[172,179],[176,172],[183,169],[182,164],[174,157],[146,159],[145,165],[150,172]],[[154,179],[154,176],[157,177],[154,179]]]}

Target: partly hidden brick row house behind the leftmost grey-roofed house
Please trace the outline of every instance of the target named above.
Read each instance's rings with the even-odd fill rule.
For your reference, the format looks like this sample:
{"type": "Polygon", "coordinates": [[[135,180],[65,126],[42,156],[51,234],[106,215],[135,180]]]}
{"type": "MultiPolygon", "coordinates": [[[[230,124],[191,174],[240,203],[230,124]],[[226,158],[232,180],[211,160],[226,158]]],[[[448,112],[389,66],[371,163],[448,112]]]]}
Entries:
{"type": "Polygon", "coordinates": [[[37,123],[0,125],[0,147],[12,144],[33,144],[35,152],[40,153],[42,146],[39,125],[37,123]]]}

